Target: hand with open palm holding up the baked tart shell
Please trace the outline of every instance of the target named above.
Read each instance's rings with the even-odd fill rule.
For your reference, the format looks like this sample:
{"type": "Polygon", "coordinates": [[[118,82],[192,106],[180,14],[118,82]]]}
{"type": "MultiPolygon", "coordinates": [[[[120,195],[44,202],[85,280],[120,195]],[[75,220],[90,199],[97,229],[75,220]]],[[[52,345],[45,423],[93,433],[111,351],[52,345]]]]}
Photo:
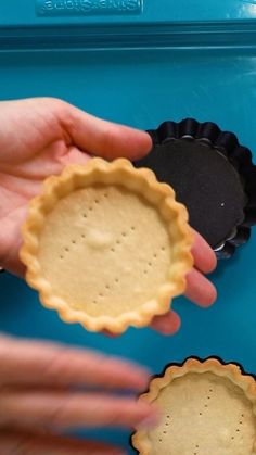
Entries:
{"type": "MultiPolygon", "coordinates": [[[[136,160],[152,147],[148,134],[95,118],[71,104],[50,98],[0,103],[0,265],[24,275],[18,260],[21,225],[42,181],[71,163],[86,164],[90,155],[136,160]]],[[[188,277],[187,296],[201,306],[216,299],[203,274],[216,265],[215,254],[195,235],[195,267],[188,277]]],[[[169,334],[180,319],[172,311],[156,317],[152,327],[169,334]]]]}

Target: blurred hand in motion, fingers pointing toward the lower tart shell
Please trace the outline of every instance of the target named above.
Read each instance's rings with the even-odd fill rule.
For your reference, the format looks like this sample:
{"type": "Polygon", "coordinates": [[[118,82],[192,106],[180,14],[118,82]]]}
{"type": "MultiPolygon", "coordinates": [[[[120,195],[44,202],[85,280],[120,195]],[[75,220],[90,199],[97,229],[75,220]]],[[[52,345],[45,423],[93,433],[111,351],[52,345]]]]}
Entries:
{"type": "Polygon", "coordinates": [[[130,394],[114,394],[148,386],[148,371],[128,362],[0,337],[0,365],[1,454],[124,454],[118,447],[67,440],[62,432],[79,427],[146,428],[157,421],[151,405],[130,394]]]}

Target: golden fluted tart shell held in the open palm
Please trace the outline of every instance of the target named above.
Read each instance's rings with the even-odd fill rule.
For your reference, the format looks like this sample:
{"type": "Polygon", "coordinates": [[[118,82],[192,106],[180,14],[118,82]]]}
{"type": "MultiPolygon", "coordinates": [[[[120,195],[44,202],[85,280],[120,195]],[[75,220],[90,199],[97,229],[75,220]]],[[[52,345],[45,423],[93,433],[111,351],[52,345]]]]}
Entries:
{"type": "Polygon", "coordinates": [[[169,309],[193,242],[183,205],[150,169],[93,159],[48,178],[23,227],[27,282],[88,330],[124,332],[169,309]]]}

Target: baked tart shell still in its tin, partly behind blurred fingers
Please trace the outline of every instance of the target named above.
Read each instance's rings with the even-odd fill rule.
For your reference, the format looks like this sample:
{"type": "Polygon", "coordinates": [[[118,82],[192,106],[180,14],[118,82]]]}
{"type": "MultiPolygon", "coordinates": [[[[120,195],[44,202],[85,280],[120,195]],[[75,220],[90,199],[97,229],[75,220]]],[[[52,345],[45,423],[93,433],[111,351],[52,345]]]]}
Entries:
{"type": "Polygon", "coordinates": [[[256,454],[256,381],[235,365],[190,358],[153,379],[140,400],[162,413],[157,428],[132,437],[141,455],[256,454]]]}

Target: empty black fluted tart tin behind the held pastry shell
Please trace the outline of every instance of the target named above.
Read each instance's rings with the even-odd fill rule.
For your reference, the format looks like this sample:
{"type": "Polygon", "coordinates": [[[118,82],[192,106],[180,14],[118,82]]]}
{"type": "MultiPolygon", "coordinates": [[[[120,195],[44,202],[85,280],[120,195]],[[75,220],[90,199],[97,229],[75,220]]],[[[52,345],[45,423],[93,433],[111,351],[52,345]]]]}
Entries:
{"type": "Polygon", "coordinates": [[[256,166],[238,137],[215,123],[185,118],[148,131],[153,149],[136,167],[151,168],[170,185],[190,225],[216,252],[230,258],[256,224],[256,166]]]}

